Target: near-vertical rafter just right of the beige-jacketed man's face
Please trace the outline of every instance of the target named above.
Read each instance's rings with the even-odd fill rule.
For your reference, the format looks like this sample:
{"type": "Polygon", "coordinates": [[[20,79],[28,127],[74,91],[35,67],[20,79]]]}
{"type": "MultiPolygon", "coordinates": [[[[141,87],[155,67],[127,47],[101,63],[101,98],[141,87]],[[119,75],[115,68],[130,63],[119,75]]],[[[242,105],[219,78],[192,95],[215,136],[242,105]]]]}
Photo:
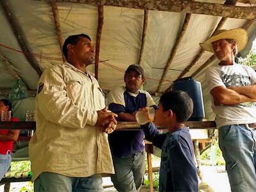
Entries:
{"type": "Polygon", "coordinates": [[[100,54],[100,38],[102,33],[104,19],[104,9],[102,5],[98,6],[98,28],[97,28],[97,38],[96,38],[96,50],[95,50],[95,78],[98,79],[99,76],[99,54],[100,54]]]}

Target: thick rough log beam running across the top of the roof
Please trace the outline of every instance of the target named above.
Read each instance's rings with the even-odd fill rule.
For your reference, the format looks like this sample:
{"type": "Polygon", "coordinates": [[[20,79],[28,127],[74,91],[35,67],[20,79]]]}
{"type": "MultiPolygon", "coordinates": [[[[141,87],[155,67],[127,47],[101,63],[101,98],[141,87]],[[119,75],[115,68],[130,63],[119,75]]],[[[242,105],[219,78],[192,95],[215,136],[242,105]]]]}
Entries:
{"type": "Polygon", "coordinates": [[[143,10],[159,10],[164,12],[185,12],[237,19],[256,19],[255,6],[230,6],[219,3],[205,3],[188,0],[57,0],[57,2],[119,6],[143,10]]]}

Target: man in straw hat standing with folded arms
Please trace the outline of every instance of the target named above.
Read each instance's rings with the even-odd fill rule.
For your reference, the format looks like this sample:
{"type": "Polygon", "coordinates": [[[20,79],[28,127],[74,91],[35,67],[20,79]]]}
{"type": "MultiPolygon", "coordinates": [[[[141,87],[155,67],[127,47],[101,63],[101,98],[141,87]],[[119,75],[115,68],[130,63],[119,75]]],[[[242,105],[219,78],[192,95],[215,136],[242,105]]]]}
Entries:
{"type": "Polygon", "coordinates": [[[220,30],[200,44],[220,60],[206,77],[232,191],[256,191],[256,72],[234,60],[247,40],[239,28],[220,30]]]}

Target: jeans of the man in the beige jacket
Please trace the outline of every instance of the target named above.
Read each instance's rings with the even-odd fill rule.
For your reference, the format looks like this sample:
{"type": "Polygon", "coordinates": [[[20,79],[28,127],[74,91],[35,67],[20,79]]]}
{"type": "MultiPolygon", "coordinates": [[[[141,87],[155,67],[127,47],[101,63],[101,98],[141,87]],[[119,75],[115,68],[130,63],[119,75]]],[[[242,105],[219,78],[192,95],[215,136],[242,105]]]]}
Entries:
{"type": "Polygon", "coordinates": [[[58,173],[43,172],[35,180],[35,192],[103,192],[101,175],[68,177],[58,173]]]}

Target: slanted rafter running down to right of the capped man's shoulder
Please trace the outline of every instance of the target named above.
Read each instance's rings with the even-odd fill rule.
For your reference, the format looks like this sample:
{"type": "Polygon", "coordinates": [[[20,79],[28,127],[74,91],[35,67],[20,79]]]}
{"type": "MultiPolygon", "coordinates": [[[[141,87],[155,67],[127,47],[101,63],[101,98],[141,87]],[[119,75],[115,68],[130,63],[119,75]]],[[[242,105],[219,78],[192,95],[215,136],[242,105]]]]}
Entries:
{"type": "Polygon", "coordinates": [[[175,57],[175,55],[176,55],[176,52],[177,52],[177,50],[179,49],[180,42],[182,41],[183,36],[184,36],[184,34],[185,34],[185,31],[186,31],[186,29],[187,29],[187,27],[188,27],[188,23],[189,23],[190,18],[191,18],[191,14],[186,14],[186,17],[185,17],[185,20],[184,20],[182,29],[181,29],[181,31],[180,31],[180,33],[179,33],[179,35],[178,35],[177,41],[175,42],[175,44],[174,44],[174,46],[173,46],[172,52],[171,52],[171,54],[170,54],[170,57],[169,57],[169,59],[168,59],[166,65],[165,65],[165,67],[164,67],[164,72],[163,72],[163,75],[162,75],[162,77],[161,77],[161,79],[160,79],[160,82],[159,82],[159,85],[158,85],[158,87],[157,87],[156,92],[159,92],[160,89],[161,89],[161,86],[162,86],[162,84],[163,84],[164,78],[166,77],[166,74],[168,73],[169,68],[170,68],[170,66],[172,65],[173,59],[174,59],[174,57],[175,57]]]}

